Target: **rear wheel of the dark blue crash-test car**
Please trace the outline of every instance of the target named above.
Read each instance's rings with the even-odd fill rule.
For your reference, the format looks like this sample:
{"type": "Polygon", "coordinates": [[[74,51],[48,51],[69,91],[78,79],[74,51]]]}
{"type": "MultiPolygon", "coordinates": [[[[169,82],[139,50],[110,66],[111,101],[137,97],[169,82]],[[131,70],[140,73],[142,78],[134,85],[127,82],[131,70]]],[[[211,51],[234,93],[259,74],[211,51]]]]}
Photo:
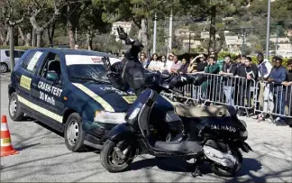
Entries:
{"type": "Polygon", "coordinates": [[[12,120],[23,121],[24,113],[22,112],[16,92],[9,96],[9,115],[12,120]]]}

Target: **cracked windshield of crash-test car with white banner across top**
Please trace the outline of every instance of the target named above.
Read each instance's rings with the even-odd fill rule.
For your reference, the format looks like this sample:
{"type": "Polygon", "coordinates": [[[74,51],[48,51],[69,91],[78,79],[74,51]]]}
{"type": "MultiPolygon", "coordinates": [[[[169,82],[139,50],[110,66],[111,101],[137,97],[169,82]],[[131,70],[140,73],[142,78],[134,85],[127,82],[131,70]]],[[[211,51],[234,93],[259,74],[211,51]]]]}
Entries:
{"type": "MultiPolygon", "coordinates": [[[[110,83],[105,75],[102,57],[87,55],[66,55],[68,78],[72,81],[110,83]]],[[[119,59],[110,58],[113,64],[119,59]]]]}

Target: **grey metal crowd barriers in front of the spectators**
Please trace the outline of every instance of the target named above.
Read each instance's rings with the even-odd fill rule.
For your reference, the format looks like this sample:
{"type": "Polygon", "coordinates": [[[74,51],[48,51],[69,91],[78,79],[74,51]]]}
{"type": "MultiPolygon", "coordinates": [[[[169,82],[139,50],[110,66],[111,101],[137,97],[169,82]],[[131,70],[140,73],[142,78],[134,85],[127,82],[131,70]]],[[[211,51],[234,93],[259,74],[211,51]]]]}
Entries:
{"type": "Polygon", "coordinates": [[[198,87],[192,84],[179,87],[181,95],[163,95],[183,99],[184,103],[192,101],[195,105],[233,105],[245,110],[248,116],[251,112],[292,119],[292,86],[208,73],[188,75],[203,75],[205,82],[198,87]]]}

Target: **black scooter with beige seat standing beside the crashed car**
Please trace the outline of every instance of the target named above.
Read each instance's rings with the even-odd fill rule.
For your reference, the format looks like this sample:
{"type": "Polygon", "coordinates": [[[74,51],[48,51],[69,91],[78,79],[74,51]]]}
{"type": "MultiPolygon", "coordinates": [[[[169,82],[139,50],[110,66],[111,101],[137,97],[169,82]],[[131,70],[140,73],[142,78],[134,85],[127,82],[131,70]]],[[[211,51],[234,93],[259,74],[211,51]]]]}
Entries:
{"type": "MultiPolygon", "coordinates": [[[[159,90],[174,91],[166,83],[159,90]]],[[[237,118],[232,106],[172,105],[147,88],[137,97],[125,121],[105,136],[100,158],[109,172],[129,168],[134,158],[146,153],[158,158],[194,159],[193,177],[201,175],[204,162],[210,163],[214,174],[231,177],[242,167],[240,149],[252,151],[244,142],[248,138],[246,124],[237,118]],[[181,129],[173,124],[184,125],[181,129]]]]}

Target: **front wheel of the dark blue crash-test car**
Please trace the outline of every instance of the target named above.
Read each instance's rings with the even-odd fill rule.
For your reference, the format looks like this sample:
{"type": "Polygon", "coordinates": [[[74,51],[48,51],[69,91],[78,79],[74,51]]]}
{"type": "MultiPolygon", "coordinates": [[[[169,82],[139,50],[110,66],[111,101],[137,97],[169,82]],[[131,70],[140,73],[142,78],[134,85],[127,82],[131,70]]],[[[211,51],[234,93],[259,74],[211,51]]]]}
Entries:
{"type": "Polygon", "coordinates": [[[85,133],[82,129],[82,118],[78,113],[68,116],[65,124],[65,143],[69,151],[83,151],[85,133]]]}

